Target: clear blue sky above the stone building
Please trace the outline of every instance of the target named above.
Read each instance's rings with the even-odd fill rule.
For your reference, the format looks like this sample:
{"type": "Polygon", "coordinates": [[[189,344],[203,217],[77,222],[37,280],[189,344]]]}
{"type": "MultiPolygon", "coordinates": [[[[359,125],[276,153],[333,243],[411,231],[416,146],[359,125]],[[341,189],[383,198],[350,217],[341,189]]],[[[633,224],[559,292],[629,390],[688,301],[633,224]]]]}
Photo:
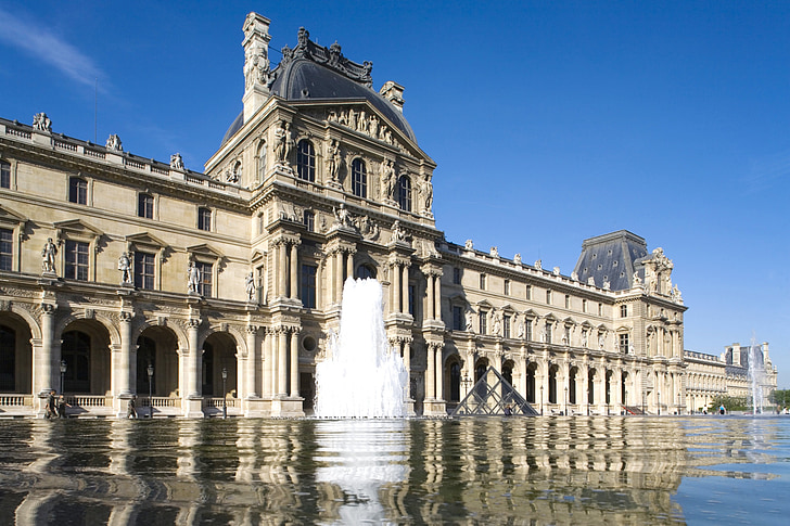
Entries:
{"type": "Polygon", "coordinates": [[[767,341],[790,388],[790,2],[0,0],[0,116],[202,170],[250,11],[272,63],[305,26],[406,87],[448,240],[570,274],[630,230],[675,262],[687,349],[767,341]]]}

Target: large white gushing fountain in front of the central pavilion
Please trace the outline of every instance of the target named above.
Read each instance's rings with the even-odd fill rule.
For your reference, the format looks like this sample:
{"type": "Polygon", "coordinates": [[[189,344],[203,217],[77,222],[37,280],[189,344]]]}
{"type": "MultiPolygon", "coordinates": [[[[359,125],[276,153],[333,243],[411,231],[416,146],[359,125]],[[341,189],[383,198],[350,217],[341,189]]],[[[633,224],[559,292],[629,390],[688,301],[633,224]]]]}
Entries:
{"type": "Polygon", "coordinates": [[[340,337],[329,342],[328,358],[316,364],[316,416],[405,416],[408,373],[384,332],[381,284],[347,279],[343,286],[340,337]]]}

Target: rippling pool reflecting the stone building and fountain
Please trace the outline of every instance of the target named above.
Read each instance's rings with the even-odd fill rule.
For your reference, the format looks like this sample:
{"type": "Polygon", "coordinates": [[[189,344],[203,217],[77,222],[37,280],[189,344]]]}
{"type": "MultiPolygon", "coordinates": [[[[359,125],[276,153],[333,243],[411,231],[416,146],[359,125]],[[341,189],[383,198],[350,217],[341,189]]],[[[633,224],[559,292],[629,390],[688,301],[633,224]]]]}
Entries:
{"type": "Polygon", "coordinates": [[[3,524],[787,524],[789,416],[0,421],[3,524]]]}

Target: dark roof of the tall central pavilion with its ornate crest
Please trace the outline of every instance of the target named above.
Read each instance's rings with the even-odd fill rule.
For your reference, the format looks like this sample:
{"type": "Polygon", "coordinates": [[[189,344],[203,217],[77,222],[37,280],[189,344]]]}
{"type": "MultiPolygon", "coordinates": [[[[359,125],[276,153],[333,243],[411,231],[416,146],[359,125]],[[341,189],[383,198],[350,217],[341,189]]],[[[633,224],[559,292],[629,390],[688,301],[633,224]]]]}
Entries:
{"type": "MultiPolygon", "coordinates": [[[[396,128],[417,143],[409,123],[390,101],[372,89],[372,62],[349,61],[337,42],[329,49],[309,40],[309,33],[300,28],[298,44],[282,48],[282,60],[271,70],[269,90],[286,101],[366,100],[396,128]]],[[[243,112],[225,133],[225,144],[244,125],[243,112]]]]}

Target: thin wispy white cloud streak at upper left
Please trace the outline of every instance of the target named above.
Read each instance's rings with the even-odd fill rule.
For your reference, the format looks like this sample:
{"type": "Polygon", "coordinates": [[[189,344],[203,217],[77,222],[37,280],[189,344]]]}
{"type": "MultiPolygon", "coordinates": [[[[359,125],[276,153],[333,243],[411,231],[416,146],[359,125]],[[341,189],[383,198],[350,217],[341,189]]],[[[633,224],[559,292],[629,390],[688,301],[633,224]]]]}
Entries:
{"type": "Polygon", "coordinates": [[[93,86],[104,75],[87,55],[40,24],[31,24],[0,8],[0,40],[55,67],[79,84],[93,86]]]}

